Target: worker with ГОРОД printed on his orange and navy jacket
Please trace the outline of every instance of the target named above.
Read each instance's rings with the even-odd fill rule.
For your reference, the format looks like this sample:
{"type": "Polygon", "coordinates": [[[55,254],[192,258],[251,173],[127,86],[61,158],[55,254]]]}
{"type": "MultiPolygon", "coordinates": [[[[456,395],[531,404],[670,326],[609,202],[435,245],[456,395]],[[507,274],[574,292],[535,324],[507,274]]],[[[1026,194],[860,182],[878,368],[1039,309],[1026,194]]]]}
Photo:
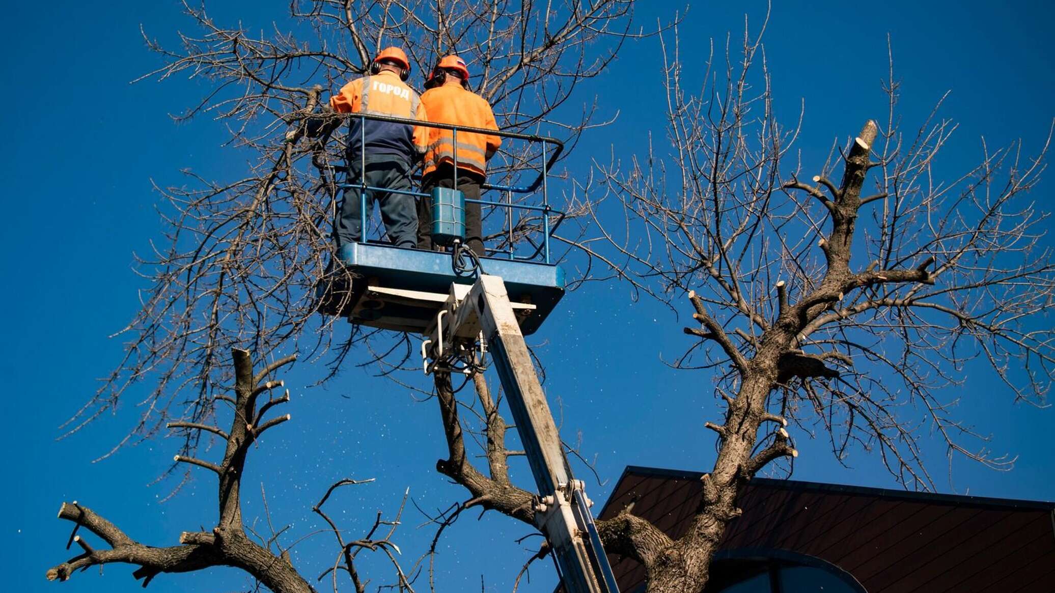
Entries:
{"type": "MultiPolygon", "coordinates": [[[[373,58],[369,76],[352,80],[330,97],[330,108],[339,113],[389,115],[427,121],[427,109],[406,84],[409,76],[410,62],[403,50],[387,47],[373,58]]],[[[426,140],[427,130],[420,126],[351,119],[346,153],[350,187],[345,189],[333,223],[333,240],[339,255],[343,247],[363,237],[362,200],[358,186],[364,181],[369,187],[389,190],[367,190],[367,217],[373,210],[376,199],[381,207],[388,241],[399,247],[415,247],[418,228],[415,198],[391,190],[414,191],[410,171],[424,154],[426,140]],[[365,154],[360,154],[361,150],[365,154]]]]}

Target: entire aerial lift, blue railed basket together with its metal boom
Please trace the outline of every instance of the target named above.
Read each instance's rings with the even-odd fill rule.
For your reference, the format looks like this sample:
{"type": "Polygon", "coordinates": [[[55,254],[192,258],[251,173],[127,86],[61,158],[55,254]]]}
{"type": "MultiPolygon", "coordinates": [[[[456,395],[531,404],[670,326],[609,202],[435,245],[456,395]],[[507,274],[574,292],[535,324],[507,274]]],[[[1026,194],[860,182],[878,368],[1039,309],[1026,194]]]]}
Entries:
{"type": "MultiPolygon", "coordinates": [[[[564,293],[563,270],[550,261],[550,235],[563,214],[550,207],[546,196],[546,174],[562,144],[548,137],[395,117],[362,114],[352,117],[452,130],[456,146],[458,133],[468,132],[497,134],[540,147],[542,166],[538,178],[523,187],[484,185],[482,190],[504,193],[506,199],[476,200],[482,207],[505,209],[510,233],[506,250],[477,257],[461,244],[464,203],[473,200],[465,199],[457,188],[437,189],[431,195],[403,192],[433,200],[434,242],[449,245],[450,252],[376,242],[346,245],[338,259],[349,272],[348,280],[320,291],[320,310],[347,317],[356,325],[423,336],[421,355],[426,374],[479,372],[485,355],[490,353],[538,487],[536,525],[553,550],[564,590],[618,593],[590,513],[592,502],[583,482],[572,474],[523,338],[541,326],[564,293]],[[514,194],[535,194],[540,188],[541,205],[514,203],[514,194]],[[514,247],[516,210],[540,214],[542,236],[534,245],[533,253],[518,254],[514,247]],[[556,218],[552,226],[551,216],[556,218]]],[[[360,130],[364,128],[360,126],[360,130]]],[[[364,200],[361,224],[365,237],[366,191],[391,190],[363,185],[344,187],[365,190],[360,192],[364,200]]]]}

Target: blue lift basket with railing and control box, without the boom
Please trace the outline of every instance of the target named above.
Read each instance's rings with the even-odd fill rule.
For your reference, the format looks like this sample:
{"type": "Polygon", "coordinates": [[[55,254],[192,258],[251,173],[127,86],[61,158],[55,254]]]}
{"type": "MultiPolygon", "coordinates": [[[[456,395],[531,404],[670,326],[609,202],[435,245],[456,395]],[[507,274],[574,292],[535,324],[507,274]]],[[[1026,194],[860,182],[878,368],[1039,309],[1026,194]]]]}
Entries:
{"type": "MultiPolygon", "coordinates": [[[[350,114],[349,117],[361,121],[378,120],[449,130],[456,146],[459,133],[473,133],[523,140],[538,147],[540,167],[524,169],[529,175],[538,172],[534,180],[523,184],[518,175],[513,175],[506,180],[506,185],[485,183],[480,186],[483,192],[499,194],[497,199],[468,199],[463,192],[454,188],[435,188],[430,193],[424,193],[409,189],[372,187],[354,176],[340,186],[342,189],[361,190],[360,225],[364,238],[369,217],[368,192],[409,195],[419,200],[429,200],[433,214],[429,234],[435,246],[447,249],[456,241],[465,241],[466,204],[493,209],[488,211],[492,213],[503,212],[504,245],[486,249],[486,256],[479,257],[476,272],[501,276],[520,330],[524,334],[537,330],[564,294],[564,272],[551,262],[550,252],[551,236],[563,221],[564,213],[550,206],[546,181],[548,173],[560,156],[563,144],[544,136],[377,114],[358,113],[350,114]],[[540,193],[540,204],[514,199],[514,195],[526,197],[536,192],[540,193]],[[515,212],[528,213],[528,218],[534,218],[537,223],[529,221],[528,227],[522,228],[515,212]],[[533,224],[538,225],[535,230],[531,228],[533,224]],[[524,235],[533,232],[537,233],[535,238],[524,235]],[[525,249],[518,252],[518,244],[525,249]]],[[[361,168],[365,167],[365,129],[366,126],[359,128],[359,157],[363,159],[361,168]]],[[[454,167],[459,168],[457,158],[454,167]]],[[[344,168],[347,169],[348,167],[344,168]]],[[[495,219],[501,218],[501,215],[495,216],[492,225],[494,226],[495,219]]],[[[411,333],[426,332],[429,325],[436,323],[439,310],[445,307],[452,285],[472,285],[476,282],[474,274],[466,274],[461,268],[455,270],[453,253],[449,251],[410,249],[364,240],[343,244],[334,255],[333,265],[315,286],[315,308],[327,315],[346,317],[356,325],[411,333]]]]}

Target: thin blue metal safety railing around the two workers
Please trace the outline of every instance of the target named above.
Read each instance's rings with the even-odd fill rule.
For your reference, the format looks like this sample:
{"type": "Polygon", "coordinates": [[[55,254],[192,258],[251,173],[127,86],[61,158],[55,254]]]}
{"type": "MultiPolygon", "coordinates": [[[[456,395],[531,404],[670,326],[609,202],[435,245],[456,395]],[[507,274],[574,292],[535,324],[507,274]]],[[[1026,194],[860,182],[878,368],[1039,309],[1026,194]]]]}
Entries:
{"type": "MultiPolygon", "coordinates": [[[[363,241],[366,241],[366,229],[367,229],[366,222],[367,222],[367,219],[369,219],[369,215],[370,215],[370,212],[368,212],[367,209],[366,209],[366,192],[368,192],[368,191],[383,191],[383,192],[396,193],[396,194],[400,194],[400,195],[414,196],[416,199],[422,199],[422,198],[430,199],[431,198],[431,195],[429,195],[427,193],[424,193],[424,192],[408,191],[408,190],[397,190],[397,189],[390,189],[390,188],[379,188],[379,187],[373,187],[373,186],[366,185],[366,175],[365,175],[365,172],[366,172],[366,125],[365,125],[365,120],[387,121],[387,122],[391,122],[391,123],[405,123],[407,126],[420,126],[420,127],[423,127],[423,128],[435,128],[435,129],[440,129],[440,130],[450,130],[450,136],[452,136],[450,137],[450,142],[452,142],[452,148],[453,148],[452,154],[454,155],[453,160],[454,160],[454,186],[455,186],[455,189],[458,188],[458,132],[462,132],[462,133],[476,133],[476,134],[487,134],[487,135],[492,135],[492,136],[499,136],[499,137],[502,137],[502,138],[511,138],[511,139],[516,139],[516,140],[525,140],[528,142],[538,142],[539,145],[541,145],[540,156],[541,156],[541,162],[542,162],[542,170],[539,172],[538,177],[536,177],[534,181],[532,181],[531,184],[525,185],[525,186],[482,184],[480,186],[481,193],[484,192],[484,191],[488,191],[488,190],[498,191],[498,192],[504,192],[504,194],[505,194],[505,200],[504,202],[495,202],[495,200],[488,200],[488,199],[468,199],[468,198],[466,198],[465,202],[467,204],[479,204],[481,206],[481,208],[483,208],[483,207],[491,207],[491,208],[502,208],[502,209],[505,209],[505,212],[506,212],[506,214],[505,214],[505,218],[506,218],[506,225],[505,225],[505,227],[506,228],[505,228],[504,232],[507,235],[509,246],[507,246],[506,249],[487,249],[486,246],[485,246],[485,249],[487,251],[487,255],[488,256],[496,256],[497,255],[497,256],[505,256],[505,257],[507,257],[510,260],[517,260],[517,261],[537,261],[539,259],[539,255],[541,255],[542,256],[542,259],[541,259],[542,262],[544,262],[546,264],[552,263],[551,262],[551,255],[550,255],[550,237],[553,235],[553,233],[560,226],[560,223],[563,222],[565,213],[563,211],[557,210],[557,209],[553,208],[552,206],[550,206],[549,183],[548,183],[546,177],[549,176],[549,172],[550,172],[550,170],[552,170],[553,165],[557,161],[557,158],[560,156],[560,153],[564,150],[564,144],[562,141],[560,141],[560,140],[558,140],[556,138],[551,138],[549,136],[535,136],[535,135],[531,135],[531,134],[520,134],[520,133],[517,133],[517,132],[503,132],[501,130],[487,130],[485,128],[469,128],[469,127],[465,127],[465,126],[454,126],[454,125],[450,125],[450,123],[440,123],[440,122],[437,122],[437,121],[419,121],[417,119],[408,119],[408,118],[403,118],[403,117],[394,117],[394,116],[388,116],[388,115],[373,115],[373,114],[365,114],[365,113],[352,113],[352,114],[344,114],[344,115],[347,116],[349,119],[359,119],[359,120],[361,120],[361,125],[359,127],[359,161],[360,161],[360,168],[359,168],[359,170],[360,170],[361,173],[360,173],[360,176],[359,176],[359,183],[346,183],[346,184],[341,184],[338,187],[341,188],[341,189],[358,189],[358,190],[360,190],[359,191],[359,199],[360,199],[360,225],[361,225],[360,229],[361,229],[361,236],[362,236],[363,241]],[[550,151],[548,149],[548,147],[550,145],[552,145],[553,147],[555,147],[554,150],[550,151]],[[540,188],[542,190],[541,204],[539,204],[539,205],[532,205],[532,204],[518,204],[518,203],[514,203],[513,202],[513,195],[514,194],[518,194],[518,195],[532,194],[532,193],[535,193],[536,191],[538,191],[540,188]],[[515,225],[514,225],[514,222],[513,222],[513,213],[514,213],[514,211],[517,211],[517,210],[528,211],[528,212],[538,212],[538,213],[541,214],[542,241],[538,245],[534,245],[533,244],[533,247],[535,247],[535,251],[533,253],[531,253],[530,255],[517,255],[516,254],[516,245],[515,245],[515,241],[514,241],[514,228],[515,228],[515,225]],[[552,223],[550,221],[551,216],[556,216],[556,219],[553,221],[552,223]]],[[[349,141],[351,141],[351,140],[349,139],[349,141]]],[[[334,169],[346,169],[346,168],[334,168],[334,169]]],[[[420,180],[420,176],[417,176],[417,175],[413,176],[411,178],[416,179],[416,180],[420,180]]],[[[484,216],[481,213],[481,225],[482,225],[482,219],[483,218],[484,218],[484,216]]],[[[481,232],[481,234],[483,234],[483,233],[481,232]]]]}

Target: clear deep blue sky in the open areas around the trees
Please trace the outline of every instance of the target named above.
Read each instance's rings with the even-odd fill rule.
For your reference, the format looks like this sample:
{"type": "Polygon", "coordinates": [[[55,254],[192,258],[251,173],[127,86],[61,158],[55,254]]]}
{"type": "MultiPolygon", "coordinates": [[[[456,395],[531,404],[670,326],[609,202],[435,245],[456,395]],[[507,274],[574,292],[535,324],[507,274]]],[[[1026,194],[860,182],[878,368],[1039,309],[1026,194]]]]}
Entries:
{"type": "MultiPolygon", "coordinates": [[[[215,12],[217,18],[266,26],[271,15],[262,15],[256,4],[227,2],[215,12]]],[[[285,5],[275,3],[274,14],[285,5]]],[[[648,24],[668,14],[670,5],[642,3],[638,18],[648,24]]],[[[702,70],[709,38],[721,40],[729,31],[740,35],[744,11],[751,22],[760,22],[764,8],[763,2],[693,3],[682,25],[683,60],[692,63],[698,56],[702,70]]],[[[0,255],[7,279],[0,303],[9,314],[0,368],[8,402],[2,439],[14,482],[0,500],[7,508],[13,503],[15,515],[4,522],[0,548],[18,567],[9,581],[13,591],[135,591],[131,569],[120,566],[107,567],[102,577],[93,570],[64,585],[43,579],[46,568],[68,554],[62,547],[70,525],[55,519],[60,502],[76,499],[133,537],[173,544],[180,531],[211,520],[214,482],[200,476],[172,500],[159,502],[171,484],[150,482],[167,466],[175,441],[143,443],[92,463],[135,418],[134,397],[117,415],[71,438],[57,441],[58,425],[118,361],[120,340],[107,337],[131,317],[142,288],[131,271],[131,254],[146,250],[159,232],[151,179],[162,186],[183,183],[178,170],[184,167],[209,177],[234,177],[244,170],[244,156],[218,146],[223,136],[215,122],[175,125],[169,118],[198,96],[197,81],[129,84],[159,65],[139,37],[140,23],[161,39],[189,26],[175,2],[64,1],[46,11],[18,3],[7,11],[11,51],[0,69],[8,91],[0,97],[0,113],[8,141],[0,174],[13,224],[6,240],[12,249],[0,255]]],[[[811,158],[820,167],[832,138],[844,138],[866,118],[885,113],[879,82],[886,75],[889,33],[908,128],[952,90],[943,113],[961,127],[950,147],[951,170],[979,156],[982,135],[991,145],[1021,137],[1035,149],[1055,115],[1051,18],[1047,3],[1028,1],[774,2],[766,52],[778,114],[793,117],[805,101],[800,148],[807,167],[811,158]]],[[[588,136],[578,158],[607,154],[612,146],[629,154],[647,130],[659,130],[658,63],[654,40],[634,43],[583,88],[581,102],[597,95],[602,113],[618,111],[619,117],[588,136]]],[[[1050,208],[1053,188],[1051,179],[1038,186],[1039,204],[1050,208]]],[[[625,465],[704,470],[713,461],[713,440],[702,428],[718,414],[708,391],[710,378],[661,364],[660,356],[670,358],[686,345],[680,325],[648,302],[630,309],[628,292],[618,284],[590,284],[570,293],[532,339],[543,360],[553,361],[546,387],[552,400],[559,398],[565,438],[581,432],[583,452],[597,456],[598,472],[608,480],[591,485],[596,500],[607,498],[625,465]]],[[[416,403],[405,389],[361,368],[349,367],[324,387],[308,388],[312,377],[307,365],[285,376],[294,397],[288,409],[294,421],[252,453],[247,516],[260,510],[262,481],[274,522],[292,523],[294,537],[318,529],[310,506],[342,477],[377,479],[334,500],[340,520],[360,531],[376,510],[395,512],[406,487],[425,509],[464,499],[433,468],[443,455],[434,402],[416,403]]],[[[956,395],[962,398],[962,417],[992,433],[992,448],[1018,455],[1018,463],[1010,473],[957,463],[956,487],[982,496],[1055,499],[1050,477],[1055,462],[1047,438],[1055,413],[1013,405],[1000,394],[991,377],[979,375],[956,395]]],[[[844,470],[823,442],[800,440],[800,448],[797,479],[894,485],[875,459],[860,453],[850,459],[853,467],[844,470]]],[[[948,491],[942,452],[933,453],[936,481],[948,491]]],[[[406,511],[396,539],[408,558],[431,536],[427,528],[418,528],[423,521],[413,508],[406,511]]],[[[440,589],[479,590],[482,573],[495,587],[488,591],[509,590],[532,543],[513,539],[526,533],[497,515],[463,518],[444,539],[440,589]]],[[[332,561],[324,537],[295,549],[294,562],[306,574],[322,572],[332,561]]],[[[522,590],[552,591],[549,565],[534,570],[533,577],[522,590]]],[[[151,585],[155,592],[239,588],[246,589],[244,578],[224,570],[164,575],[151,585]]]]}

